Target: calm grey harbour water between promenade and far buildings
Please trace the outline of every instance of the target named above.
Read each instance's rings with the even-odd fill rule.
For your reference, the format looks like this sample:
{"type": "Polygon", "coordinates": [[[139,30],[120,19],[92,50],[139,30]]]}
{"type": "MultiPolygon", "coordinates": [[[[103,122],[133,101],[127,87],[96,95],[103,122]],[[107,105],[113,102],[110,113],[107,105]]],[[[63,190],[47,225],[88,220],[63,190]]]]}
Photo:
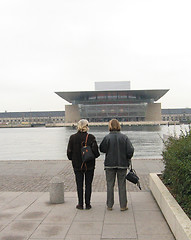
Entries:
{"type": "MultiPolygon", "coordinates": [[[[188,130],[188,126],[125,126],[122,132],[133,143],[134,158],[161,158],[163,134],[179,134],[181,129],[188,130]]],[[[1,128],[0,160],[65,160],[68,139],[75,132],[70,127],[1,128]]],[[[91,127],[89,132],[100,144],[108,129],[91,127]]]]}

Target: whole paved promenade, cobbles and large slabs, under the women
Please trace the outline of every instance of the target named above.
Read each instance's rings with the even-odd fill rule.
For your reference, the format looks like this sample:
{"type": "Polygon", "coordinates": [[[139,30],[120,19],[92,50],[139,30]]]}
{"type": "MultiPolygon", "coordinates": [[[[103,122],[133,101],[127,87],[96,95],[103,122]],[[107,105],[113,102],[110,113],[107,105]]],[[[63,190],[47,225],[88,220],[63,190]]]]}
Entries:
{"type": "MultiPolygon", "coordinates": [[[[103,160],[97,160],[92,209],[77,210],[71,162],[0,161],[1,240],[173,240],[148,184],[150,172],[161,172],[160,159],[134,159],[142,191],[128,187],[128,211],[121,212],[115,193],[113,211],[105,205],[103,160]],[[65,203],[50,204],[49,183],[59,176],[65,183],[65,203]]],[[[117,186],[116,186],[117,190],[117,186]]]]}

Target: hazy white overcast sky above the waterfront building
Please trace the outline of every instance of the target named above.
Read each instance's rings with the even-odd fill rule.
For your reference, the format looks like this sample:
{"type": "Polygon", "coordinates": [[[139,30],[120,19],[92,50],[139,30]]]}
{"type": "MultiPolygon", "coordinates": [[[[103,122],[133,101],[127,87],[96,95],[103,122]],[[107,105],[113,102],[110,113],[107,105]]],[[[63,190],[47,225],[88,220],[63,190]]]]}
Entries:
{"type": "Polygon", "coordinates": [[[64,110],[95,81],[191,107],[190,0],[0,0],[0,112],[64,110]]]}

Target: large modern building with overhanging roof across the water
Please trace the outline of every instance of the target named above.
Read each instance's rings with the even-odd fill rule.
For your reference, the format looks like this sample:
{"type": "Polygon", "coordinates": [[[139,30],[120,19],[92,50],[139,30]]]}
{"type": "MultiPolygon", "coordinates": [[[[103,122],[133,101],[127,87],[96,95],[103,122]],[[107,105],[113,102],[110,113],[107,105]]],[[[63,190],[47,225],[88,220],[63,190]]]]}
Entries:
{"type": "Polygon", "coordinates": [[[130,90],[130,82],[96,82],[95,91],[56,92],[70,105],[65,106],[65,122],[162,121],[161,103],[169,89],[130,90]]]}

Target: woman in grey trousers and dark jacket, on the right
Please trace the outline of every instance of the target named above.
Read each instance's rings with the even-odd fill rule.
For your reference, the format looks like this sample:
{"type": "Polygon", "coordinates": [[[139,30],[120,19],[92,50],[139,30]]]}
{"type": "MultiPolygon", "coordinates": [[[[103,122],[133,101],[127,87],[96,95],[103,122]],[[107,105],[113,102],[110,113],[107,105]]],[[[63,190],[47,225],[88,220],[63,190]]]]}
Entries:
{"type": "Polygon", "coordinates": [[[114,185],[117,176],[120,208],[121,211],[125,211],[128,209],[125,176],[134,148],[129,138],[120,130],[121,126],[118,120],[112,119],[109,122],[110,133],[102,140],[100,151],[105,153],[107,209],[112,210],[114,204],[114,185]]]}

